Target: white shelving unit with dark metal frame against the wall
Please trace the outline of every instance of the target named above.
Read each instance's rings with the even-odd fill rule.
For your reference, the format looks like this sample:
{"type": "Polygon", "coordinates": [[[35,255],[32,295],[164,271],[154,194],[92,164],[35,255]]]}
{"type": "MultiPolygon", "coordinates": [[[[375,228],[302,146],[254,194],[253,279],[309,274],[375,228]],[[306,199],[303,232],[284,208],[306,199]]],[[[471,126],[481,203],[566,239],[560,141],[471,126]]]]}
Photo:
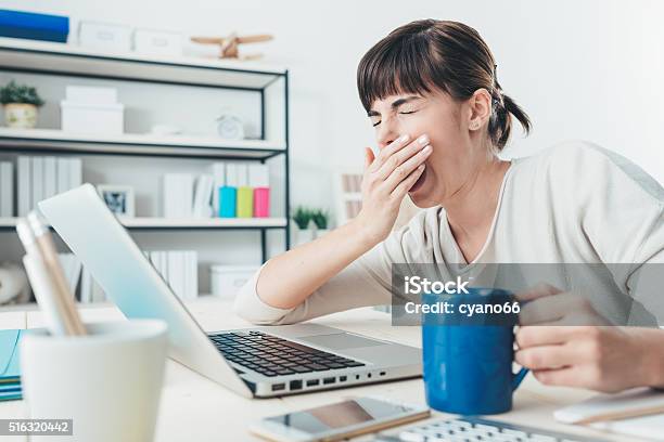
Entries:
{"type": "MultiPolygon", "coordinates": [[[[282,231],[290,248],[289,72],[256,62],[197,57],[144,56],[99,52],[72,44],[0,38],[0,73],[63,76],[84,79],[202,87],[258,94],[260,121],[257,139],[224,140],[213,136],[90,135],[54,129],[0,128],[0,153],[50,154],[84,157],[142,156],[162,158],[239,159],[260,161],[282,156],[283,206],[280,218],[252,219],[122,219],[130,231],[253,230],[260,233],[263,261],[267,259],[266,234],[282,231]]],[[[256,96],[256,95],[253,95],[256,96]]],[[[254,99],[255,100],[255,99],[254,99]]],[[[279,165],[281,166],[281,165],[279,165]]],[[[277,184],[273,183],[272,186],[277,184]]],[[[0,219],[0,233],[14,229],[16,218],[0,219]]]]}

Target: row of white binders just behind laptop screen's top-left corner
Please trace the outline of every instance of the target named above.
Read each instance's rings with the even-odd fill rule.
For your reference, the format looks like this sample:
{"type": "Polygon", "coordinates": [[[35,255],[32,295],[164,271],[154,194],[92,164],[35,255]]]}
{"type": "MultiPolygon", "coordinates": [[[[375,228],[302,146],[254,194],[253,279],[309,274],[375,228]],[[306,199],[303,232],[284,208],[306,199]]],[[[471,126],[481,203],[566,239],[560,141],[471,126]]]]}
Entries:
{"type": "Polygon", "coordinates": [[[20,156],[18,216],[25,217],[42,199],[82,184],[80,158],[20,156]]]}

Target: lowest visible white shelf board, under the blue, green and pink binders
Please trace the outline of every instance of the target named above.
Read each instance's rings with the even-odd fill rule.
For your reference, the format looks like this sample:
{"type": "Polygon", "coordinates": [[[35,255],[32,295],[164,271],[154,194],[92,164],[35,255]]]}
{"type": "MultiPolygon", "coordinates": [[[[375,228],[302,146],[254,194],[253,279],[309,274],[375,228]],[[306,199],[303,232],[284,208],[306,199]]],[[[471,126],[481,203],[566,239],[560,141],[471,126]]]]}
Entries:
{"type": "MultiPolygon", "coordinates": [[[[18,218],[0,218],[0,229],[13,229],[18,218]]],[[[120,218],[127,229],[260,229],[284,227],[285,218],[120,218]]]]}

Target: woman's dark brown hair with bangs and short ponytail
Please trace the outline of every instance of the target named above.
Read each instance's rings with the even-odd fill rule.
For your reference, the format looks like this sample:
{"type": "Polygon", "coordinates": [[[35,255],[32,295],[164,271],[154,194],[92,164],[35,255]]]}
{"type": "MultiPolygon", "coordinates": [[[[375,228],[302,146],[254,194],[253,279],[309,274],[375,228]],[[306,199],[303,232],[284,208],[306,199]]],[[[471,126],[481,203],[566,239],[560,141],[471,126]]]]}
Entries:
{"type": "Polygon", "coordinates": [[[477,89],[491,94],[488,134],[501,151],[515,117],[531,131],[525,112],[502,93],[494,55],[480,34],[458,22],[421,20],[396,28],[360,61],[357,89],[367,110],[375,100],[399,93],[424,94],[432,89],[468,100],[477,89]]]}

